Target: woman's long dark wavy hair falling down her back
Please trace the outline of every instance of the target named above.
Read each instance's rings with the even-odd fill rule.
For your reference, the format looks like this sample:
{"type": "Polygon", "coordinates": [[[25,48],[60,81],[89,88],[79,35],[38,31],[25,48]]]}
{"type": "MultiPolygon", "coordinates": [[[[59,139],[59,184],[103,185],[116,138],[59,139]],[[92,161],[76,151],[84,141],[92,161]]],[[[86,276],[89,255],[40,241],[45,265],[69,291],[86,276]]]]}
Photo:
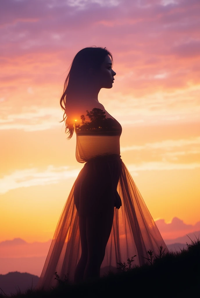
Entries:
{"type": "MultiPolygon", "coordinates": [[[[81,90],[81,87],[85,86],[88,69],[100,69],[101,64],[104,62],[105,57],[109,55],[113,64],[112,54],[103,47],[91,46],[80,50],[74,57],[69,73],[65,80],[63,94],[60,98],[60,105],[62,110],[64,110],[63,120],[67,118],[67,102],[72,100],[73,95],[77,92],[77,82],[79,82],[78,90],[81,90]],[[64,105],[62,105],[62,102],[64,105]]],[[[60,122],[62,122],[60,121],[60,122]]],[[[67,139],[71,139],[74,133],[74,127],[68,127],[65,121],[65,133],[69,133],[67,139]],[[67,132],[68,129],[68,132],[67,132]]]]}

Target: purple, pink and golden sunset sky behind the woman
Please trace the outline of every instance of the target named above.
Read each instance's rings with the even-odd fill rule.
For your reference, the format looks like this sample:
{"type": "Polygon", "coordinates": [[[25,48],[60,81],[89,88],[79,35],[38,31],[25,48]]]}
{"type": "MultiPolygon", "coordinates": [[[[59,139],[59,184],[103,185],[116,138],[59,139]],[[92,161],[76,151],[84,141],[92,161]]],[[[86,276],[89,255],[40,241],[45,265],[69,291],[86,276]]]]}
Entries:
{"type": "Polygon", "coordinates": [[[0,241],[53,237],[84,166],[60,97],[93,45],[113,55],[99,102],[121,123],[121,159],[152,217],[200,221],[199,13],[199,0],[1,1],[0,241]]]}

